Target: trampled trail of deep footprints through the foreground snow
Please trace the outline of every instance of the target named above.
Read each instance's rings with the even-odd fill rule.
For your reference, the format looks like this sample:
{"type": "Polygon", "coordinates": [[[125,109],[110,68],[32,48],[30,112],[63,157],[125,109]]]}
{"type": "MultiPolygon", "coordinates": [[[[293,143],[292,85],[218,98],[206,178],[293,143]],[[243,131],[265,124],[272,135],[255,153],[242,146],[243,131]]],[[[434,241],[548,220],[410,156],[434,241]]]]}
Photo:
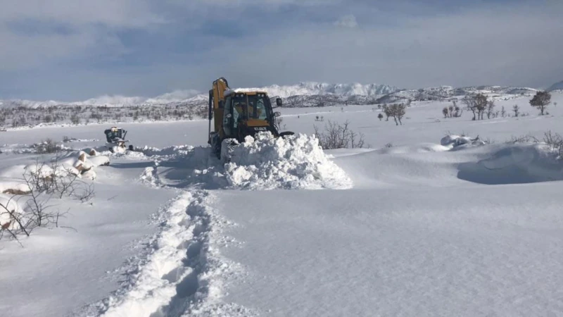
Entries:
{"type": "Polygon", "coordinates": [[[234,224],[215,213],[212,201],[209,192],[198,190],[172,201],[147,258],[125,287],[96,305],[96,316],[204,316],[210,311],[248,316],[246,309],[221,300],[224,279],[238,268],[219,254],[218,247],[233,243],[222,230],[234,224]]]}

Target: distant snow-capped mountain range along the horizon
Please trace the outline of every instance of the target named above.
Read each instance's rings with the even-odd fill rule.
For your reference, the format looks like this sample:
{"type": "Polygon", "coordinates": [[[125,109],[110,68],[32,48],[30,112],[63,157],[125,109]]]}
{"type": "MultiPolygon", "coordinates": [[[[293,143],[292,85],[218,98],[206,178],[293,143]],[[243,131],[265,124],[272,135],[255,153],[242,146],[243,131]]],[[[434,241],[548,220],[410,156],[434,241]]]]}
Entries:
{"type": "MultiPolygon", "coordinates": [[[[550,91],[563,89],[563,82],[550,87],[550,91]]],[[[270,97],[279,96],[284,99],[284,106],[331,106],[336,104],[385,104],[403,102],[407,100],[443,100],[462,97],[465,94],[482,92],[498,98],[513,98],[520,95],[535,94],[536,89],[528,87],[460,87],[451,86],[428,87],[421,89],[399,89],[390,85],[359,83],[327,84],[321,82],[300,82],[297,85],[272,85],[258,88],[236,89],[239,91],[262,90],[270,97]]],[[[85,101],[29,101],[29,100],[1,100],[0,107],[8,108],[46,108],[49,106],[204,106],[207,103],[207,92],[196,90],[177,90],[158,97],[124,97],[102,96],[85,101]]]]}

